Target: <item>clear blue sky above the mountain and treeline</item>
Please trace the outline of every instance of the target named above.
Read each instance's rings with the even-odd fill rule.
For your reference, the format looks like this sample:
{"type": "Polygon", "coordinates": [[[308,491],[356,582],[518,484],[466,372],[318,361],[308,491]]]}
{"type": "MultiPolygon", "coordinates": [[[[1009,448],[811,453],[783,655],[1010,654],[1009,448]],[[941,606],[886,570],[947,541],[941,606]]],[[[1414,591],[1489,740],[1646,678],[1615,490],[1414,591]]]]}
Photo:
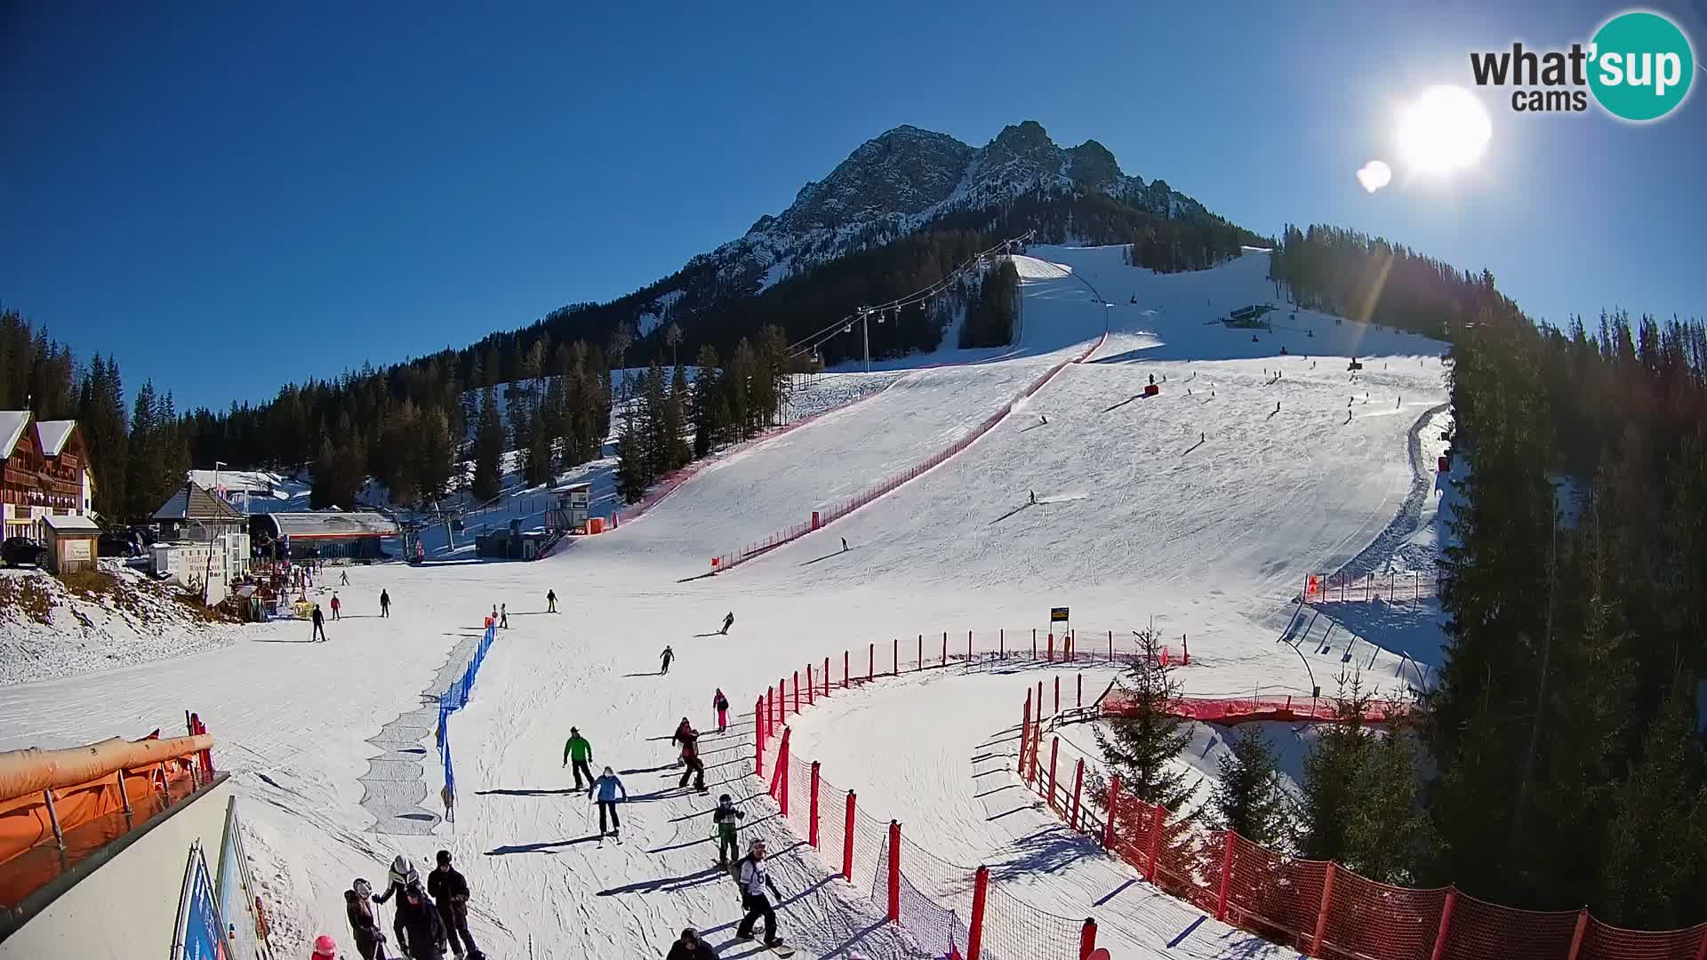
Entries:
{"type": "MultiPolygon", "coordinates": [[[[1352,178],[1470,50],[1622,5],[504,7],[0,3],[0,304],[218,408],[630,292],[894,125],[1038,120],[1261,232],[1487,266],[1538,316],[1707,314],[1700,91],[1644,128],[1490,96],[1473,174],[1352,178]]],[[[1707,0],[1654,9],[1707,55],[1707,0]]]]}

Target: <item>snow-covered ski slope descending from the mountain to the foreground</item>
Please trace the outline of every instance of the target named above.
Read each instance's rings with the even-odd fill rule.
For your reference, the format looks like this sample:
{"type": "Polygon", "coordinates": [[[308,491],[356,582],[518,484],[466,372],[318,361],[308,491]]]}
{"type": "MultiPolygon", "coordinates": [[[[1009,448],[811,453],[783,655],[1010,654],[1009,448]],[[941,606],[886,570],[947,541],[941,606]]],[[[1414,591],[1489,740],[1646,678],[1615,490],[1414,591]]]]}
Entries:
{"type": "MultiPolygon", "coordinates": [[[[1202,661],[1186,671],[1193,692],[1308,688],[1299,656],[1275,644],[1289,600],[1304,572],[1355,557],[1405,507],[1417,468],[1407,439],[1446,400],[1430,340],[1287,309],[1270,314],[1272,331],[1214,323],[1275,299],[1263,253],[1156,275],[1121,263],[1118,248],[1036,248],[1019,266],[1024,316],[1009,350],[917,359],[958,366],[922,366],[724,456],[638,521],[546,560],[355,571],[353,588],[340,589],[347,610],[384,586],[393,617],[360,610],[328,623],[329,642],[273,623],[193,658],[10,687],[0,748],[135,736],[200,711],[244,798],[278,924],[304,938],[285,955],[316,933],[347,936],[352,878],[379,876],[396,852],[427,863],[439,847],[468,875],[471,926],[492,957],[659,957],[688,924],[732,946],[736,890],[712,868],[708,837],[708,810],[727,791],[748,811],[743,832],[785,851],[778,919],[802,955],[918,957],[906,931],[879,922],[799,849],[749,776],[758,692],[843,649],[1038,625],[1062,605],[1075,622],[1140,627],[1154,617],[1168,635],[1190,634],[1202,661]],[[705,576],[717,550],[929,460],[1104,333],[1084,362],[934,470],[705,576]],[[1352,355],[1364,364],[1355,383],[1352,355]],[[1144,398],[1152,374],[1161,389],[1144,398]],[[545,613],[548,589],[562,613],[545,613]],[[437,803],[432,729],[410,717],[461,671],[497,603],[509,605],[510,629],[451,724],[452,827],[437,803]],[[727,612],[734,629],[719,635],[727,612]],[[659,675],[666,644],[678,659],[659,675]],[[683,716],[708,729],[719,687],[741,716],[705,740],[712,791],[702,798],[676,789],[667,738],[683,716]],[[562,755],[572,724],[592,741],[594,767],[611,765],[632,794],[620,847],[599,844],[597,815],[570,789],[562,755]]],[[[932,683],[888,700],[900,705],[883,724],[862,723],[857,702],[816,729],[802,714],[801,738],[826,764],[835,755],[838,777],[874,810],[935,823],[942,856],[1000,861],[1017,895],[1127,929],[1108,943],[1127,945],[1116,957],[1173,955],[1162,934],[1183,907],[1142,883],[1098,904],[1130,876],[1063,837],[1016,854],[1043,828],[1040,813],[975,818],[1005,808],[987,803],[1000,794],[973,801],[975,781],[995,777],[978,777],[958,752],[1017,721],[1028,678],[944,671],[932,683]]],[[[1186,955],[1217,955],[1203,946],[1217,943],[1261,950],[1214,924],[1193,943],[1186,955]]]]}

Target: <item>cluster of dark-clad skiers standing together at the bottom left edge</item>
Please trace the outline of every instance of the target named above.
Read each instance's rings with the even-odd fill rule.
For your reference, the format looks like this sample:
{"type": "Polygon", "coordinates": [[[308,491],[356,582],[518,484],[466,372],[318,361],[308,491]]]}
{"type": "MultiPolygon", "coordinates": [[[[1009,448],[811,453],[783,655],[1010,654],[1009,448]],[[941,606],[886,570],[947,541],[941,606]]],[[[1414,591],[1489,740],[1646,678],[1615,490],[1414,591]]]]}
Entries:
{"type": "MultiPolygon", "coordinates": [[[[396,936],[399,960],[444,960],[446,948],[457,958],[485,958],[485,953],[475,945],[475,936],[468,933],[468,878],[452,866],[451,851],[439,851],[437,866],[427,875],[425,885],[410,858],[398,854],[391,861],[384,893],[374,893],[374,887],[362,878],[357,878],[343,892],[350,934],[355,938],[355,950],[362,960],[386,960],[389,957],[386,953],[386,928],[379,919],[377,904],[393,897],[396,897],[396,907],[391,933],[396,936]]],[[[336,940],[319,936],[314,941],[314,960],[336,957],[336,940]]]]}

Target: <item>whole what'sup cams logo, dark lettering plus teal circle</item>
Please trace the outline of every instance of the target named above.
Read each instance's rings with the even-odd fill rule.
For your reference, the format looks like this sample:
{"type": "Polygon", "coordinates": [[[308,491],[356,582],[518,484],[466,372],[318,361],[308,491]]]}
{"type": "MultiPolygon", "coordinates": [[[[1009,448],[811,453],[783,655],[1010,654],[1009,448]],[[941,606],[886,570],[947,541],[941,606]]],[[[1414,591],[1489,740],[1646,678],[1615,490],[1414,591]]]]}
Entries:
{"type": "Polygon", "coordinates": [[[1688,97],[1695,79],[1690,38],[1669,19],[1632,10],[1601,24],[1570,50],[1511,50],[1470,55],[1478,87],[1516,87],[1519,113],[1581,113],[1589,96],[1606,113],[1637,123],[1659,120],[1688,97]]]}

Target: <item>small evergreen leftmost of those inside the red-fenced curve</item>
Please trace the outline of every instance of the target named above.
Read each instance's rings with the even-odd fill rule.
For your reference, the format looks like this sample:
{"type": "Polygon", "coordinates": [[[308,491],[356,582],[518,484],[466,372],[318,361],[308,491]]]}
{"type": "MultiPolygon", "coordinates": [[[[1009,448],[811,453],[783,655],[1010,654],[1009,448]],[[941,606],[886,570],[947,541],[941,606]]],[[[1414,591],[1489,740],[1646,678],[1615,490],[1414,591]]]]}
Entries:
{"type": "Polygon", "coordinates": [[[1191,733],[1180,716],[1180,682],[1162,663],[1156,630],[1139,634],[1139,658],[1121,676],[1120,694],[1120,714],[1108,719],[1106,731],[1096,729],[1103,760],[1120,774],[1123,794],[1181,813],[1193,787],[1174,758],[1191,733]]]}

